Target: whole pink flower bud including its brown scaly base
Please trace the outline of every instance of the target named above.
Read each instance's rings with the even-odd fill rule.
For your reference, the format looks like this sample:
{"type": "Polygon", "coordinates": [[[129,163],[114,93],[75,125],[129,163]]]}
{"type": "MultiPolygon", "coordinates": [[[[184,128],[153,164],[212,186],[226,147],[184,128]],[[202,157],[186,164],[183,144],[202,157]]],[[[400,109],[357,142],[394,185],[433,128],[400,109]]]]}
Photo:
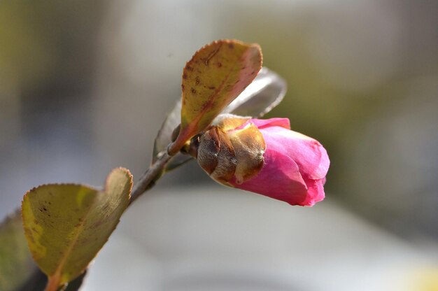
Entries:
{"type": "Polygon", "coordinates": [[[225,118],[196,143],[199,165],[219,183],[292,205],[313,206],[325,197],[327,152],[292,132],[287,118],[225,118]]]}

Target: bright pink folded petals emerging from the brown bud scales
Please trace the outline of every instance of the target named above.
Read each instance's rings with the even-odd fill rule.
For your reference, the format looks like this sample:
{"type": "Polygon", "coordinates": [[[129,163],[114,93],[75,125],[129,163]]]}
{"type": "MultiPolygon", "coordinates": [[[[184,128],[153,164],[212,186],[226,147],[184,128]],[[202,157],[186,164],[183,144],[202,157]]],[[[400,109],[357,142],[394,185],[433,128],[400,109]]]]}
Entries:
{"type": "Polygon", "coordinates": [[[313,206],[323,200],[330,165],[325,148],[315,139],[290,130],[287,118],[248,122],[260,130],[266,143],[264,165],[254,178],[230,183],[292,205],[313,206]]]}

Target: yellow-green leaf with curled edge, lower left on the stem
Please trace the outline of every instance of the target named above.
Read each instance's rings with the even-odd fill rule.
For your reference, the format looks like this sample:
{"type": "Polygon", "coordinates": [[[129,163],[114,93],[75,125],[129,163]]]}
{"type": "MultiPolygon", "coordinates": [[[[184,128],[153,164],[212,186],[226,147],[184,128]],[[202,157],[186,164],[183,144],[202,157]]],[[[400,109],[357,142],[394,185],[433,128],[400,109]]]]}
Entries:
{"type": "Polygon", "coordinates": [[[104,191],[49,184],[24,195],[22,220],[31,254],[52,289],[80,276],[108,240],[128,206],[132,175],[111,171],[104,191]]]}

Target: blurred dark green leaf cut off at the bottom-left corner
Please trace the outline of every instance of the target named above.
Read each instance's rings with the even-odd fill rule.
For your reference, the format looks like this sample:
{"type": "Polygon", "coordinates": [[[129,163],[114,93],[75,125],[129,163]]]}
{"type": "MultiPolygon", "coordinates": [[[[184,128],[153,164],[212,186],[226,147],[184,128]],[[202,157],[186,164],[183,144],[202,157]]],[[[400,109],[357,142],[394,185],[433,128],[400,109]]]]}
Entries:
{"type": "Polygon", "coordinates": [[[37,270],[17,210],[0,225],[0,290],[20,288],[37,270]]]}

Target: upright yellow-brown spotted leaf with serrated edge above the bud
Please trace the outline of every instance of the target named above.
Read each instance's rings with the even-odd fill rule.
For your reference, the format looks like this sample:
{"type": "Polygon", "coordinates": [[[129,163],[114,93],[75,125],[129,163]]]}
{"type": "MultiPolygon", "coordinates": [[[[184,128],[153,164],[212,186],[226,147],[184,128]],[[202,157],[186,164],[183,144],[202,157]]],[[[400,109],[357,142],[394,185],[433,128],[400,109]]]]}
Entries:
{"type": "Polygon", "coordinates": [[[262,51],[257,44],[220,40],[198,50],[183,70],[181,129],[169,153],[176,154],[206,129],[261,68],[262,51]]]}

